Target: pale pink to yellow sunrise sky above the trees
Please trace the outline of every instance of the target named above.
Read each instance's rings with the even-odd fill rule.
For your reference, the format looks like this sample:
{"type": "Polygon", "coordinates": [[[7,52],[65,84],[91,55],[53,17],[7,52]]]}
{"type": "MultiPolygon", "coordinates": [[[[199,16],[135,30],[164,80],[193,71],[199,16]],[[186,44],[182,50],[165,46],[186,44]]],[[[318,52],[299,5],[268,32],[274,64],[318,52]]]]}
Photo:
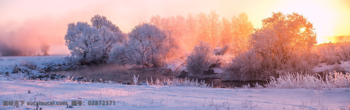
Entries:
{"type": "Polygon", "coordinates": [[[297,12],[313,23],[318,43],[350,35],[350,0],[0,0],[0,42],[28,53],[40,54],[37,48],[48,46],[50,55],[67,55],[64,35],[70,22],[90,23],[100,14],[129,32],[152,15],[186,17],[211,10],[220,19],[245,12],[254,28],[272,12],[297,12]]]}

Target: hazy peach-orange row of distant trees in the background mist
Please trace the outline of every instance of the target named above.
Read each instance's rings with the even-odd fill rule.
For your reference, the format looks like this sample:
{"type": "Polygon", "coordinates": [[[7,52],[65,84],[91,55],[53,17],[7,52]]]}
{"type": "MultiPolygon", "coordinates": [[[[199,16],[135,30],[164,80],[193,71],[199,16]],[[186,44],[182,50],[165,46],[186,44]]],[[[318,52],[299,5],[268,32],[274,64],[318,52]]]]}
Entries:
{"type": "Polygon", "coordinates": [[[164,18],[156,15],[152,16],[148,23],[169,30],[187,50],[192,49],[199,41],[209,42],[212,47],[223,46],[226,43],[234,43],[237,46],[246,44],[248,35],[253,32],[253,25],[244,12],[231,19],[220,19],[215,10],[209,14],[189,13],[187,18],[181,15],[164,18]]]}

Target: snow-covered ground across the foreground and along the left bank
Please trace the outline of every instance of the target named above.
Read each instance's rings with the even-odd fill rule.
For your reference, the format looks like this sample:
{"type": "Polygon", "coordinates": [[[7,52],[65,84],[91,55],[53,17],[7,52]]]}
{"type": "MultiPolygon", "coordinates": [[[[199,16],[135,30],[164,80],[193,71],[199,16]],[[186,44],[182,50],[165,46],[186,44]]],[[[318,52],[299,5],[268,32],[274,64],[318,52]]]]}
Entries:
{"type": "MultiPolygon", "coordinates": [[[[64,57],[0,57],[0,71],[2,73],[4,71],[11,72],[12,66],[19,65],[21,60],[33,60],[38,67],[43,68],[45,63],[61,63],[64,57]]],[[[35,73],[35,70],[32,71],[35,73]]],[[[189,86],[89,83],[76,82],[69,79],[38,81],[20,77],[20,74],[0,75],[0,100],[2,101],[0,110],[33,110],[36,108],[42,108],[42,110],[350,110],[350,88],[199,88],[189,86]],[[30,93],[28,93],[29,91],[30,93]],[[322,93],[320,94],[320,92],[322,93]],[[24,101],[24,104],[21,106],[21,102],[19,102],[19,106],[3,106],[7,104],[5,103],[7,101],[24,101]],[[67,105],[27,105],[29,102],[39,101],[67,102],[68,105],[71,105],[72,101],[73,103],[81,101],[82,105],[72,106],[72,108],[67,108],[67,105]],[[112,105],[91,105],[92,103],[89,105],[89,101],[112,101],[112,105]]]]}

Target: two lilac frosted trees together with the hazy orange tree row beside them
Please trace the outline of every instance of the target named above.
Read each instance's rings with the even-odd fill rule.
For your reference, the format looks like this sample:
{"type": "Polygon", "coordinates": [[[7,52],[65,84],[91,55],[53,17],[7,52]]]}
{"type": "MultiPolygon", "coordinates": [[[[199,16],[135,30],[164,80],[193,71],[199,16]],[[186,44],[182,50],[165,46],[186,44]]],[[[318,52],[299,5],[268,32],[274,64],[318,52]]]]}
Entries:
{"type": "Polygon", "coordinates": [[[105,63],[108,60],[120,65],[138,67],[160,66],[167,57],[190,50],[199,41],[212,47],[226,43],[247,41],[253,25],[245,13],[231,20],[219,20],[219,14],[188,14],[161,18],[152,16],[149,22],[135,26],[131,32],[121,32],[106,16],[95,15],[88,22],[69,23],[64,37],[74,64],[105,63]],[[111,53],[111,51],[114,52],[111,53]],[[175,52],[176,51],[176,52],[175,52]],[[110,59],[110,56],[111,59],[110,59]]]}

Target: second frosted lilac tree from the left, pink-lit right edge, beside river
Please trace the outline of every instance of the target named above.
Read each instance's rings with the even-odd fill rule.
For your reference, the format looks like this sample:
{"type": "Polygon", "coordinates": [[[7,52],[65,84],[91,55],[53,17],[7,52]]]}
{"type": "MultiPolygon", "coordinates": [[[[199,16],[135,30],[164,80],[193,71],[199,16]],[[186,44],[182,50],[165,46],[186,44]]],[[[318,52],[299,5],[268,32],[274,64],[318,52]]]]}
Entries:
{"type": "Polygon", "coordinates": [[[171,41],[169,33],[155,25],[137,25],[128,33],[127,43],[113,47],[109,62],[140,68],[157,67],[161,59],[169,56],[171,41]]]}

